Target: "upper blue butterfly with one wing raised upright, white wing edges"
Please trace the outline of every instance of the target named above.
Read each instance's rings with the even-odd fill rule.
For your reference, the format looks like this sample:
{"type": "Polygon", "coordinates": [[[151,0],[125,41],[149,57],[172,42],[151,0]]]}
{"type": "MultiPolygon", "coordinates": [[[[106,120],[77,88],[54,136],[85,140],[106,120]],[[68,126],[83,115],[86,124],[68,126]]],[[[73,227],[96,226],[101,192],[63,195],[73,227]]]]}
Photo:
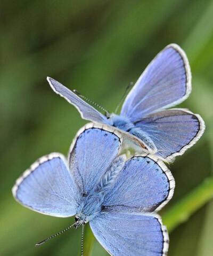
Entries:
{"type": "Polygon", "coordinates": [[[200,115],[183,108],[166,110],[182,103],[191,92],[189,61],[176,44],[166,46],[152,60],[127,95],[120,115],[106,117],[61,83],[47,80],[56,94],[78,109],[81,118],[118,128],[136,152],[173,160],[204,132],[200,115]]]}

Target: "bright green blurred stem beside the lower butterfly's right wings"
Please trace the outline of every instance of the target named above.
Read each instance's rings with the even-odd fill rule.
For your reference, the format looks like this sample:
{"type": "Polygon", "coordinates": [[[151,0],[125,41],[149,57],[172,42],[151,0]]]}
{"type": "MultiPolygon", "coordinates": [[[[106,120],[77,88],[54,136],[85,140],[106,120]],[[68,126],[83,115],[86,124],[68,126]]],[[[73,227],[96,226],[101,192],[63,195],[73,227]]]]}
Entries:
{"type": "Polygon", "coordinates": [[[208,177],[197,188],[179,200],[162,216],[169,231],[187,221],[190,216],[213,198],[213,176],[208,177]]]}

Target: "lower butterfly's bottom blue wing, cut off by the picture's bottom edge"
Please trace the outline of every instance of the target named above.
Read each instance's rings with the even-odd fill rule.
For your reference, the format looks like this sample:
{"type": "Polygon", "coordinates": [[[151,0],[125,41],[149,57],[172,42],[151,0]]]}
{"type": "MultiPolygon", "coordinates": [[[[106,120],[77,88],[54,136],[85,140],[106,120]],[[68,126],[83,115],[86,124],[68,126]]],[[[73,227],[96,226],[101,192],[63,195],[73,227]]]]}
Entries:
{"type": "Polygon", "coordinates": [[[90,223],[97,241],[113,256],[164,256],[168,234],[158,215],[101,213],[90,223]]]}

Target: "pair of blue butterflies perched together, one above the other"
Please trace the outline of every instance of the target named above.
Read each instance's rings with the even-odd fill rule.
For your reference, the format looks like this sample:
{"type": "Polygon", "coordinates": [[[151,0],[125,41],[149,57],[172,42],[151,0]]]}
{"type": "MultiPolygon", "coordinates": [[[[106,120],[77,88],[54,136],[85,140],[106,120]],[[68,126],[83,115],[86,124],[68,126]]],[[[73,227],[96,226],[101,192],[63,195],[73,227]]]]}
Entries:
{"type": "Polygon", "coordinates": [[[120,115],[106,117],[59,82],[50,77],[48,82],[93,123],[78,131],[68,161],[51,153],[26,170],[13,187],[15,199],[43,214],[76,215],[75,227],[89,222],[110,255],[166,255],[168,234],[157,212],[173,196],[175,181],[160,159],[182,154],[204,131],[199,115],[181,108],[165,110],[191,91],[183,50],[171,44],[155,57],[120,115]],[[151,155],[126,159],[121,154],[124,144],[151,155]]]}

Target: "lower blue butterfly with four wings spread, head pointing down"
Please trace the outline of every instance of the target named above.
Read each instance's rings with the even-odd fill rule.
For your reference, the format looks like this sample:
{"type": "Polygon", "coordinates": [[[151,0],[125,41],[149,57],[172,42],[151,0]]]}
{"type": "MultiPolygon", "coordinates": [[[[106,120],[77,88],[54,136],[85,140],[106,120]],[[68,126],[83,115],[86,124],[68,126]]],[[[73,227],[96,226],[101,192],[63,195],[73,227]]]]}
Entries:
{"type": "Polygon", "coordinates": [[[39,213],[75,215],[70,227],[89,222],[110,255],[166,255],[168,233],[157,212],[173,196],[174,178],[153,156],[126,159],[122,142],[117,129],[88,123],[73,140],[68,161],[60,153],[38,159],[15,183],[14,198],[39,213]]]}

